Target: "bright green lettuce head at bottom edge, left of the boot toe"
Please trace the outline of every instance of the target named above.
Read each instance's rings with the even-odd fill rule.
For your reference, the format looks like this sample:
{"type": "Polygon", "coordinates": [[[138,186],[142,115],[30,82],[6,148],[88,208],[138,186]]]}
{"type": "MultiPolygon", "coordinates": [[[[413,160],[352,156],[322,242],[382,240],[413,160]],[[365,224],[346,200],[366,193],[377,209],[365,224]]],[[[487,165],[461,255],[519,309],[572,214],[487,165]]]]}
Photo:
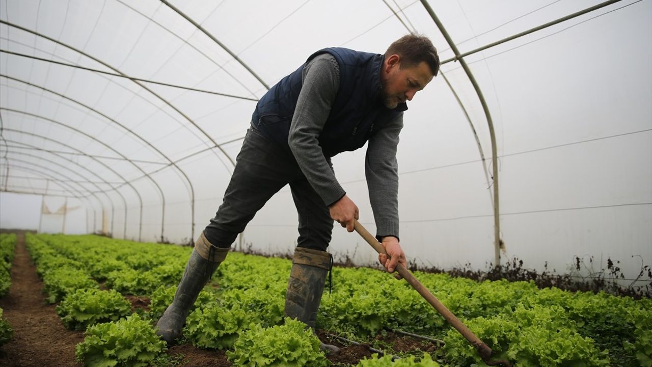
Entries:
{"type": "Polygon", "coordinates": [[[133,314],[126,319],[87,328],[75,347],[77,360],[86,367],[145,367],[166,350],[152,325],[133,314]]]}

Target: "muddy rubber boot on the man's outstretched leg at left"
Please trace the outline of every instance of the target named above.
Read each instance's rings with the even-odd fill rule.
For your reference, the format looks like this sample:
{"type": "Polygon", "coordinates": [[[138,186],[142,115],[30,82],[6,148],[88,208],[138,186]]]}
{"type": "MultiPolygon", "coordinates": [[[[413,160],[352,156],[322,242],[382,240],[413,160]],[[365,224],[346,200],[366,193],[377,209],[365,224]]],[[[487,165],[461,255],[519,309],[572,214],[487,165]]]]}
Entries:
{"type": "Polygon", "coordinates": [[[211,245],[203,232],[195,242],[195,248],[190,254],[177,293],[156,323],[156,335],[168,342],[168,345],[173,345],[181,338],[181,330],[186,323],[190,308],[228,252],[228,248],[211,245]]]}

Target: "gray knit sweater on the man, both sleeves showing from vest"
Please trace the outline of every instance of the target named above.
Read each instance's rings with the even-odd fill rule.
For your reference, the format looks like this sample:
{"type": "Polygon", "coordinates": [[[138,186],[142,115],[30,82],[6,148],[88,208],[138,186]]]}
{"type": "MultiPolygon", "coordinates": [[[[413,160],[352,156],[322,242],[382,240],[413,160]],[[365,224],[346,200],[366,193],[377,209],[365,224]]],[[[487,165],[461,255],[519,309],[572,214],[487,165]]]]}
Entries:
{"type": "MultiPolygon", "coordinates": [[[[331,112],[340,85],[340,68],[335,57],[321,54],[303,69],[303,86],[289,129],[289,147],[308,182],[327,205],[346,191],[336,180],[329,158],[319,146],[319,133],[331,112]]],[[[398,238],[398,164],[396,146],[403,127],[403,114],[376,131],[368,142],[364,172],[376,236],[398,238]]],[[[355,202],[355,198],[351,198],[355,202]]]]}

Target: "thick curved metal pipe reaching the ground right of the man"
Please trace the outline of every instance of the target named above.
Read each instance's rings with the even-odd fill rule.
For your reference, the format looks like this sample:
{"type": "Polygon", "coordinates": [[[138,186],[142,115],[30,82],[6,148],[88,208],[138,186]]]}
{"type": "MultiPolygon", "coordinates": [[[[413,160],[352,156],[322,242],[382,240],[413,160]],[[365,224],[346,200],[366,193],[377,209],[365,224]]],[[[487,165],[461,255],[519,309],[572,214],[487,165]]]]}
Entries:
{"type": "Polygon", "coordinates": [[[460,65],[462,65],[462,68],[464,68],[464,71],[466,72],[467,77],[471,81],[471,84],[473,84],[473,89],[475,89],[475,93],[477,93],[478,98],[480,99],[480,103],[482,104],[482,109],[484,110],[484,116],[486,116],[487,119],[487,124],[489,125],[489,135],[491,138],[491,150],[492,150],[492,165],[493,165],[493,176],[492,179],[494,180],[494,261],[496,263],[496,266],[500,266],[500,249],[501,249],[501,244],[502,240],[500,239],[500,210],[499,210],[499,197],[498,197],[498,154],[497,154],[497,146],[496,146],[496,133],[494,132],[494,122],[492,121],[491,118],[491,113],[489,112],[489,107],[486,104],[486,101],[484,99],[484,95],[482,95],[482,90],[480,89],[480,86],[478,85],[477,81],[475,80],[475,77],[473,76],[473,72],[471,72],[471,69],[469,69],[469,65],[467,65],[466,61],[464,58],[460,57],[460,50],[457,49],[457,46],[455,46],[455,43],[452,41],[451,36],[448,34],[446,31],[445,27],[437,18],[437,15],[435,12],[432,10],[430,7],[430,4],[428,4],[428,0],[421,0],[421,4],[423,5],[424,8],[426,8],[426,11],[428,14],[430,14],[430,18],[435,22],[437,25],[437,28],[441,32],[441,35],[446,39],[446,42],[448,42],[449,46],[451,47],[451,50],[455,53],[456,57],[460,61],[460,65]]]}

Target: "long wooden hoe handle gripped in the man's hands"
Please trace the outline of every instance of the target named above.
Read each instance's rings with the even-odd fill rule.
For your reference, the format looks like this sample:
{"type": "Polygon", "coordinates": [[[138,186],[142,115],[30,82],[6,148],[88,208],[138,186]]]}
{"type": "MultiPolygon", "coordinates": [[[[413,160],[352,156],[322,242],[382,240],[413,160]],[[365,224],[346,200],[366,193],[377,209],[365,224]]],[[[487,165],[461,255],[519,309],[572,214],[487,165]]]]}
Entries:
{"type": "MultiPolygon", "coordinates": [[[[374,247],[376,252],[384,253],[387,255],[385,252],[385,247],[383,247],[383,245],[381,245],[378,240],[376,240],[376,237],[372,236],[372,234],[369,233],[369,231],[367,231],[358,221],[355,221],[353,229],[355,229],[355,231],[358,232],[358,234],[360,234],[364,240],[368,242],[368,244],[374,247]]],[[[406,279],[406,281],[408,281],[408,283],[414,289],[416,289],[417,292],[419,292],[419,294],[425,298],[426,301],[428,301],[428,303],[431,304],[432,307],[434,307],[435,310],[437,310],[437,312],[439,312],[439,314],[442,315],[444,319],[446,319],[446,321],[452,325],[452,327],[458,330],[458,332],[460,332],[460,334],[462,334],[462,336],[464,336],[464,338],[466,338],[466,340],[468,340],[469,343],[471,343],[471,345],[477,349],[480,357],[482,357],[482,360],[484,360],[486,364],[494,366],[497,364],[503,364],[503,366],[511,367],[511,364],[505,360],[498,360],[495,362],[490,361],[489,358],[492,354],[491,348],[488,347],[485,343],[482,343],[482,340],[475,336],[475,334],[473,334],[473,332],[469,330],[469,328],[467,328],[466,325],[460,321],[460,319],[455,317],[455,315],[453,315],[452,312],[449,311],[449,309],[446,308],[446,306],[444,306],[436,296],[430,293],[430,291],[428,291],[428,289],[421,284],[421,281],[415,278],[415,276],[413,276],[405,266],[400,263],[396,264],[396,272],[398,272],[400,276],[406,279]]]]}

